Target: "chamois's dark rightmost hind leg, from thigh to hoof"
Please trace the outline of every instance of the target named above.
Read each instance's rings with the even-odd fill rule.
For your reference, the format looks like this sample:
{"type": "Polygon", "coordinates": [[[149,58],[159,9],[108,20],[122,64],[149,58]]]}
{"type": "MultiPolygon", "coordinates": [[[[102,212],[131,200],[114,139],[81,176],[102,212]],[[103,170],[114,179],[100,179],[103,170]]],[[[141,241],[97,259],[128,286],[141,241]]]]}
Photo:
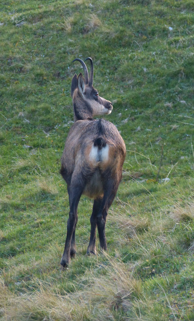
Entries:
{"type": "Polygon", "coordinates": [[[106,217],[108,214],[109,207],[112,204],[117,193],[119,182],[120,180],[117,180],[116,178],[109,178],[106,180],[106,183],[104,184],[104,196],[102,199],[100,210],[96,217],[100,247],[104,251],[107,250],[105,235],[106,217]]]}

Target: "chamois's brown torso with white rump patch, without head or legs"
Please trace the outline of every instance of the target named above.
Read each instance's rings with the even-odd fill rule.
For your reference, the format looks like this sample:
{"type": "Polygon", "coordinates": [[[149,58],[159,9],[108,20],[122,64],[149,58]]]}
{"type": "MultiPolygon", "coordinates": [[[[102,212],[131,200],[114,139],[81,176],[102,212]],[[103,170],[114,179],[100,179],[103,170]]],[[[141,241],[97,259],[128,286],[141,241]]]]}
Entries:
{"type": "Polygon", "coordinates": [[[82,194],[94,199],[103,197],[103,184],[110,173],[120,182],[124,156],[123,139],[116,126],[102,118],[78,120],[66,139],[61,174],[71,185],[72,179],[76,182],[81,173],[82,180],[77,184],[83,185],[82,194]]]}

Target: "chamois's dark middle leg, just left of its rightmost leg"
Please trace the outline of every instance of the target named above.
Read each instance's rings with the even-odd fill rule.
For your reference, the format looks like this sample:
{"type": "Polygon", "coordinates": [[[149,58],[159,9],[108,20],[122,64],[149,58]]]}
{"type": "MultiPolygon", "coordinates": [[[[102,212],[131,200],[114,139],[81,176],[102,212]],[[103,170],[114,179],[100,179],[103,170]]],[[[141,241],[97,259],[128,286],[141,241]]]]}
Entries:
{"type": "Polygon", "coordinates": [[[98,198],[94,200],[93,203],[93,211],[90,218],[91,223],[91,233],[90,233],[90,243],[87,248],[87,254],[95,254],[96,255],[96,216],[100,210],[102,204],[102,198],[98,198]]]}

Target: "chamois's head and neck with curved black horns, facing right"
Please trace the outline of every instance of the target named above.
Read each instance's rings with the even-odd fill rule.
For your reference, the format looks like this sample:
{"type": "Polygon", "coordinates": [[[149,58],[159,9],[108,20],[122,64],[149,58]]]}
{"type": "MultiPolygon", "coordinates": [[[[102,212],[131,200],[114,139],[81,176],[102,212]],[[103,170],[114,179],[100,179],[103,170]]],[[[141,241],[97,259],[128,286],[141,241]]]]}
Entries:
{"type": "Polygon", "coordinates": [[[80,73],[75,74],[71,82],[71,96],[73,98],[74,120],[84,120],[98,115],[108,115],[112,111],[112,103],[99,96],[98,91],[93,88],[93,61],[90,60],[90,77],[83,60],[76,58],[74,61],[81,62],[84,68],[84,77],[80,73]]]}

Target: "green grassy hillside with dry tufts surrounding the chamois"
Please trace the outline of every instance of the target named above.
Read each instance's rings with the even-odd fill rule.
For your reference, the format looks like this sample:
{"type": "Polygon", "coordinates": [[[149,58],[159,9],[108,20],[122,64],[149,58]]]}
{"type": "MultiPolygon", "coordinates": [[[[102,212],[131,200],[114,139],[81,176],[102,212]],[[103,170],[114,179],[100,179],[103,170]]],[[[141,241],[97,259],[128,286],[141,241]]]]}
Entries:
{"type": "Polygon", "coordinates": [[[193,11],[192,0],[1,1],[0,320],[194,320],[193,11]],[[60,274],[60,157],[82,71],[71,62],[88,56],[128,152],[108,253],[97,240],[85,256],[82,196],[77,255],[60,274]]]}

